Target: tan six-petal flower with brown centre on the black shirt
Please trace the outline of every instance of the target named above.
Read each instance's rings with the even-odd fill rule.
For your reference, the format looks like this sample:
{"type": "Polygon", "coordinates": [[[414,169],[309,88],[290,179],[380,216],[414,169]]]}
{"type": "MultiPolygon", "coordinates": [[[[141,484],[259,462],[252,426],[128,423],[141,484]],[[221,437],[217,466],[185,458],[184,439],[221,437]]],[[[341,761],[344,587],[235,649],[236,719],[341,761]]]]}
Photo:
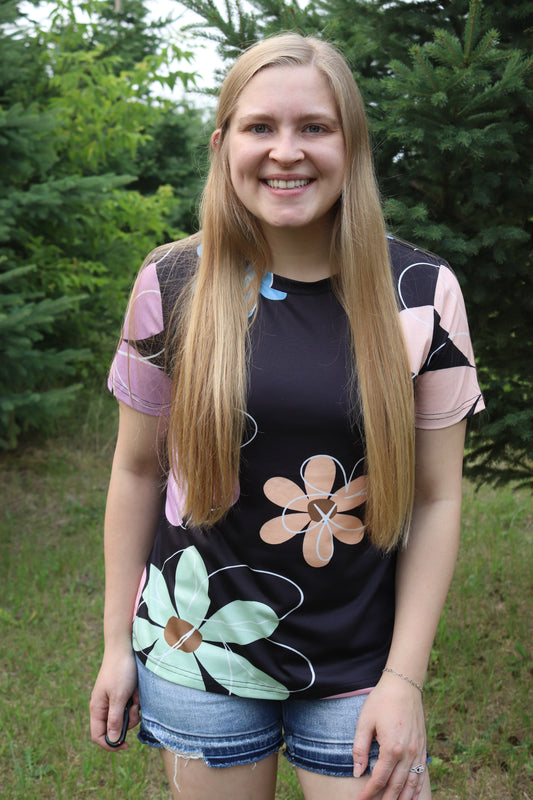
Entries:
{"type": "Polygon", "coordinates": [[[268,544],[282,544],[293,536],[303,535],[303,557],[311,567],[324,567],[331,561],[333,539],[344,544],[357,544],[365,526],[350,511],[366,499],[366,478],[348,481],[342,465],[330,456],[313,456],[302,464],[305,493],[288,478],[270,478],[265,495],[283,508],[281,517],[265,522],[261,539],[268,544]],[[337,467],[344,476],[344,485],[331,494],[337,467]]]}

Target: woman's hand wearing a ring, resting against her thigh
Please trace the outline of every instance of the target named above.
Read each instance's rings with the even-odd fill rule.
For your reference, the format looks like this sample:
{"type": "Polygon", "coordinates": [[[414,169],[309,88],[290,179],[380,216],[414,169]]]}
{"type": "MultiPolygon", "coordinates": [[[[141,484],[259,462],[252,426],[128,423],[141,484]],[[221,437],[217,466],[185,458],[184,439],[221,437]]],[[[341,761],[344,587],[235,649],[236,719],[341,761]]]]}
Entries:
{"type": "Polygon", "coordinates": [[[356,777],[367,767],[373,738],[379,743],[379,758],[359,800],[416,800],[425,773],[418,775],[410,769],[426,764],[424,709],[418,689],[384,674],[369,694],[355,732],[356,777]]]}

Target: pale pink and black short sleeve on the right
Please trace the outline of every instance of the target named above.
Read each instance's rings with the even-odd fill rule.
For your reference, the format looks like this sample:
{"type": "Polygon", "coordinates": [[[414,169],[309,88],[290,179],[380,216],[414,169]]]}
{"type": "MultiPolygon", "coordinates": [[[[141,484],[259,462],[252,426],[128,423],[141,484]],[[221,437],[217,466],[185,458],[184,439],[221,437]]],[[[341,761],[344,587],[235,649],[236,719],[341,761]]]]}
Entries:
{"type": "Polygon", "coordinates": [[[452,270],[415,264],[402,274],[399,293],[416,427],[445,428],[483,410],[465,304],[452,270]]]}

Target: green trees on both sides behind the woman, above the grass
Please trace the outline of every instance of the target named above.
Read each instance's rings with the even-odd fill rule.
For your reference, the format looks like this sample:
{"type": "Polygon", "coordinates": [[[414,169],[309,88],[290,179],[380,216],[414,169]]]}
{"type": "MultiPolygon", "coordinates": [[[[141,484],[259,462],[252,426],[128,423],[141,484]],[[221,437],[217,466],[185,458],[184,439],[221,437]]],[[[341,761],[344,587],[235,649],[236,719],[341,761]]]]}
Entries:
{"type": "MultiPolygon", "coordinates": [[[[148,6],[57,0],[39,26],[16,0],[0,2],[4,448],[46,431],[103,378],[138,264],[197,224],[208,117],[190,92],[183,35],[148,6]]],[[[279,30],[344,52],[390,229],[447,259],[464,289],[489,409],[472,426],[467,469],[479,482],[533,485],[531,3],[174,6],[194,12],[189,34],[217,49],[220,73],[279,30]]]]}

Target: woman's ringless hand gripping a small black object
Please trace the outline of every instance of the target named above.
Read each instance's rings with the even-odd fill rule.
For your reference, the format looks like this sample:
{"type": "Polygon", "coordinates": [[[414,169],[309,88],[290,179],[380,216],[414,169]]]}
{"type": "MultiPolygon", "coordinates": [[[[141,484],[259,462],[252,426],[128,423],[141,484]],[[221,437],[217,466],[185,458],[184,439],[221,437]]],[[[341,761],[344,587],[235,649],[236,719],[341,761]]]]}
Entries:
{"type": "Polygon", "coordinates": [[[131,649],[124,652],[104,654],[102,666],[89,705],[91,714],[91,739],[104,750],[127,750],[128,743],[111,748],[105,741],[116,741],[122,730],[124,707],[130,697],[129,728],[139,723],[139,692],[137,690],[137,667],[131,649]]]}

